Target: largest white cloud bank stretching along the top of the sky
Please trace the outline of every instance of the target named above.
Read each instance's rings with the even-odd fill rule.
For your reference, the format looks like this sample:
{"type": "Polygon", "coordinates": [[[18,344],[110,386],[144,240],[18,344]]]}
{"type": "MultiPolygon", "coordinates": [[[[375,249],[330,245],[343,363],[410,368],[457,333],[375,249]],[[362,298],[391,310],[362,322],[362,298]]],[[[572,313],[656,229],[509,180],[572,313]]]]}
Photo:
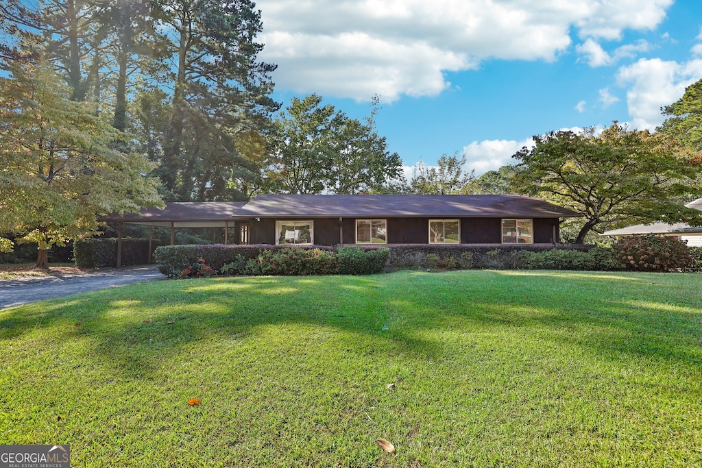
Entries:
{"type": "Polygon", "coordinates": [[[582,37],[651,29],[672,0],[259,0],[279,88],[366,100],[437,95],[482,60],[555,60],[582,37]]]}

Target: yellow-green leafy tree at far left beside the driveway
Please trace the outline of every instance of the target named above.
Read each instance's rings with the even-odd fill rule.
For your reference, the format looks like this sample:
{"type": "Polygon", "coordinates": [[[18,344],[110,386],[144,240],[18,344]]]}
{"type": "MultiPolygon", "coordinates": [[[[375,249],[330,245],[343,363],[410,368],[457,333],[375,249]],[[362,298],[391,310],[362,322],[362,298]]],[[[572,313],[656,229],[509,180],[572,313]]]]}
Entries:
{"type": "MultiPolygon", "coordinates": [[[[0,78],[0,232],[46,250],[93,234],[100,214],[158,206],[142,154],[114,149],[125,135],[95,116],[46,62],[15,61],[0,78]]],[[[4,241],[7,247],[7,242],[4,241]]]]}

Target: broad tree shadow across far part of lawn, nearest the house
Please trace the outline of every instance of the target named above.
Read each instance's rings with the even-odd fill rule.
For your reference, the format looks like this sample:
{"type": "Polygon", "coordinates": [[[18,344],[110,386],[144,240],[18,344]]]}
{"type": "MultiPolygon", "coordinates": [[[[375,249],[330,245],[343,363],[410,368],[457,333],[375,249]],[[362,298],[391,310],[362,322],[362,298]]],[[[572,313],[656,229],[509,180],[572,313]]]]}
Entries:
{"type": "Polygon", "coordinates": [[[681,298],[672,276],[651,276],[656,285],[647,276],[637,281],[625,274],[598,276],[398,272],[232,278],[161,283],[157,293],[145,284],[132,286],[131,297],[105,290],[11,309],[0,319],[0,341],[52,327],[56,341],[85,339],[105,362],[142,378],[163,356],[190,343],[213,336],[255,339],[258,327],[279,324],[339,330],[350,352],[420,359],[451,356],[461,343],[453,335],[453,341],[442,340],[442,333],[465,328],[478,334],[506,330],[515,340],[538,335],[565,345],[561,349],[590,349],[604,359],[625,354],[702,365],[700,289],[681,298]],[[147,290],[147,299],[140,299],[147,290]],[[370,351],[355,350],[359,335],[371,343],[370,351]]]}

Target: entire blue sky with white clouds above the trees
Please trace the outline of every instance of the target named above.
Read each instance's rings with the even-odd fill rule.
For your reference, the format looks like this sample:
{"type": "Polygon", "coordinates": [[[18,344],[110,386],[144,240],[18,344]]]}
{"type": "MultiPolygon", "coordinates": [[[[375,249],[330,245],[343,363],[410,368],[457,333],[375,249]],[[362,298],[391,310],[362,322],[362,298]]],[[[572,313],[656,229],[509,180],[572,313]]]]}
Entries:
{"type": "MultiPolygon", "coordinates": [[[[702,79],[699,0],[258,0],[274,97],[318,93],[406,166],[465,153],[476,173],[560,128],[660,124],[702,79]]],[[[408,170],[409,171],[409,170],[408,170]]]]}

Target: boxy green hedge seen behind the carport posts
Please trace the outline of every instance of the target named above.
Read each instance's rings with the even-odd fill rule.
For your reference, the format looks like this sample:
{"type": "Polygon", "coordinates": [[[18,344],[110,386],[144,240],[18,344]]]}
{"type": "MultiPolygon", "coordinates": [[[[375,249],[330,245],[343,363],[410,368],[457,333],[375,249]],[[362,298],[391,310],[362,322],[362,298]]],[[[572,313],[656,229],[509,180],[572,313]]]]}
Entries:
{"type": "MultiPolygon", "coordinates": [[[[117,239],[93,237],[73,243],[76,266],[81,268],[117,267],[117,239]]],[[[149,262],[149,239],[122,239],[122,266],[149,262]]]]}

